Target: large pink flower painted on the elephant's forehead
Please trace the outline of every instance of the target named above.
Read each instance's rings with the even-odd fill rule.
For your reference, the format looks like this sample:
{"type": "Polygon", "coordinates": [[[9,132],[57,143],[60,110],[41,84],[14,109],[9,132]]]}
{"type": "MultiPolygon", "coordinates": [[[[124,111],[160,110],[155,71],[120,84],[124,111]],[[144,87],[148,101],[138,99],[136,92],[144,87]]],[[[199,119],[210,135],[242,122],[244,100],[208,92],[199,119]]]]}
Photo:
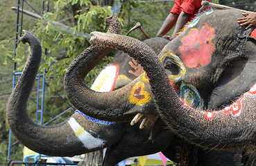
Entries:
{"type": "Polygon", "coordinates": [[[189,68],[201,68],[210,63],[215,46],[212,43],[214,28],[205,23],[200,31],[192,28],[188,35],[181,39],[180,58],[189,68]]]}

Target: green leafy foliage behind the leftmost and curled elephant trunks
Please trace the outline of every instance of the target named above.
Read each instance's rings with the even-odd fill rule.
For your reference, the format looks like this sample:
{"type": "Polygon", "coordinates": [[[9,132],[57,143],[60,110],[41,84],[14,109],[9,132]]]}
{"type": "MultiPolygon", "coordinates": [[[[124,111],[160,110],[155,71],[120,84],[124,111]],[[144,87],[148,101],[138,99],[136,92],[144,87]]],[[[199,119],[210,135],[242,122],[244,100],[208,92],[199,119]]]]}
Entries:
{"type": "MultiPolygon", "coordinates": [[[[105,17],[111,15],[111,7],[99,5],[92,5],[90,1],[56,1],[54,4],[54,12],[46,12],[44,20],[37,24],[37,37],[42,41],[42,46],[47,49],[47,55],[43,57],[41,70],[47,72],[48,77],[58,77],[50,83],[50,88],[53,91],[60,89],[60,84],[67,67],[85,48],[89,46],[89,39],[85,37],[93,30],[105,31],[105,17]],[[83,10],[80,10],[80,15],[74,17],[78,20],[75,26],[71,27],[57,27],[53,20],[62,17],[62,12],[70,5],[79,3],[83,10]],[[60,57],[59,53],[65,54],[64,58],[60,57]]],[[[110,62],[110,58],[105,61],[110,62]]],[[[97,75],[102,66],[96,67],[87,75],[85,80],[90,85],[92,79],[97,75]]]]}

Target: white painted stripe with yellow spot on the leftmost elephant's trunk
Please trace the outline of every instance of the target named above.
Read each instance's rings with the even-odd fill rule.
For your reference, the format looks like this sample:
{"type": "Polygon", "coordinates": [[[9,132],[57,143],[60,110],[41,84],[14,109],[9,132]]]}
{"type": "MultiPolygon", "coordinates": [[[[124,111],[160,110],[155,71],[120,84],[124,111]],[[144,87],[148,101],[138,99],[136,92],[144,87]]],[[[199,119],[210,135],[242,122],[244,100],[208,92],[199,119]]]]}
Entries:
{"type": "Polygon", "coordinates": [[[93,149],[96,147],[103,147],[105,141],[99,138],[94,138],[94,136],[85,131],[74,118],[70,118],[68,122],[76,136],[83,142],[83,145],[85,145],[85,148],[93,149]]]}

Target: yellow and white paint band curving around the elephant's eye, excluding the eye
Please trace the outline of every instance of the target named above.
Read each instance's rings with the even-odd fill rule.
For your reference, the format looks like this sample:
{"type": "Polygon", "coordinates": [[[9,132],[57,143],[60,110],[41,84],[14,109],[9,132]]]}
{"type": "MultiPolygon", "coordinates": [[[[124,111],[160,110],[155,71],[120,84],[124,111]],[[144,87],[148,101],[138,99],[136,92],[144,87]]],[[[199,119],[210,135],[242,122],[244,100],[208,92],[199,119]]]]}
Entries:
{"type": "Polygon", "coordinates": [[[166,57],[173,59],[173,62],[175,62],[180,68],[180,73],[178,73],[178,75],[168,75],[169,80],[171,80],[171,82],[178,82],[182,80],[182,78],[185,76],[185,73],[187,72],[185,64],[182,62],[180,57],[174,53],[170,53],[169,51],[164,51],[162,57],[160,58],[161,62],[163,62],[166,57]]]}

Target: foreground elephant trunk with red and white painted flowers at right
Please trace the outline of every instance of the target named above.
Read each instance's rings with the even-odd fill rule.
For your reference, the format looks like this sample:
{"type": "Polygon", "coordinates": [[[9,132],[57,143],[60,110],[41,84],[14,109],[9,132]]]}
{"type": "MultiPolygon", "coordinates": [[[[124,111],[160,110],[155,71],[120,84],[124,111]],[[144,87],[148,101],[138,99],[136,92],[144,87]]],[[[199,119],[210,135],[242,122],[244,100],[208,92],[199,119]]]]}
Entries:
{"type": "Polygon", "coordinates": [[[91,33],[92,44],[112,46],[138,60],[146,71],[151,90],[157,102],[161,118],[169,128],[182,137],[200,146],[209,148],[255,149],[255,103],[256,86],[245,93],[234,104],[219,111],[200,111],[187,107],[169,84],[164,66],[153,51],[137,39],[122,35],[91,33]],[[124,41],[124,42],[122,42],[124,41]],[[126,43],[133,44],[127,46],[126,43]],[[240,108],[238,108],[241,106],[240,108]],[[239,113],[236,113],[239,109],[239,113]]]}

